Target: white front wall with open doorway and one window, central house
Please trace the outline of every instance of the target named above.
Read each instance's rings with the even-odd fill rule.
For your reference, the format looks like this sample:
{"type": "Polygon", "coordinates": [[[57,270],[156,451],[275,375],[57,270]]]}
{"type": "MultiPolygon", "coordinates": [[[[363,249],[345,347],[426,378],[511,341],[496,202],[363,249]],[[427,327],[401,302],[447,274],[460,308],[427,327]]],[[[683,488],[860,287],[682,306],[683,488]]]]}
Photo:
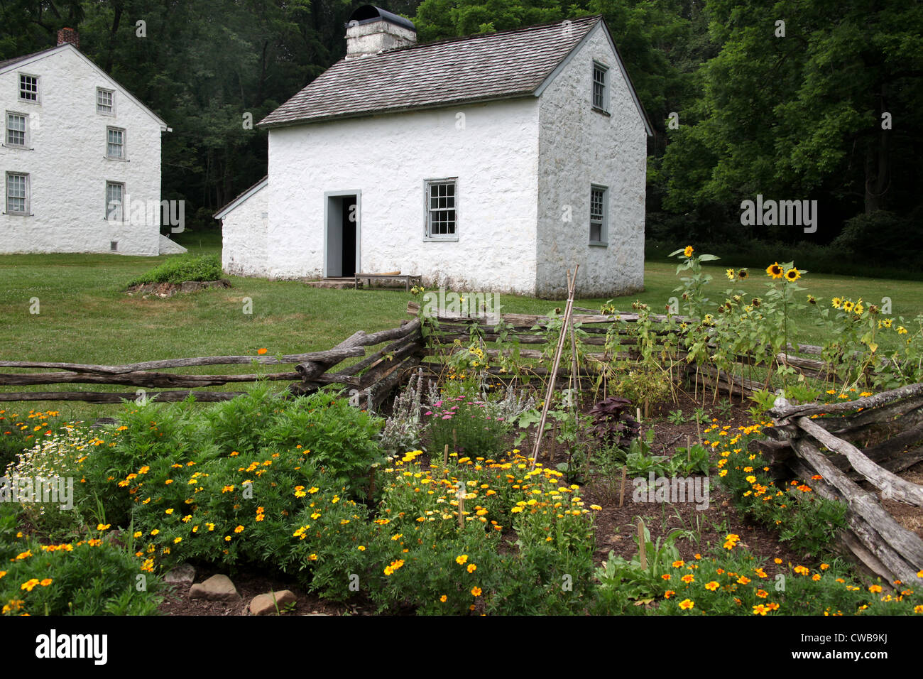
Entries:
{"type": "Polygon", "coordinates": [[[538,139],[533,97],[270,129],[271,276],[323,275],[324,192],[358,190],[360,271],[533,295],[538,139]],[[447,177],[459,239],[426,241],[424,181],[447,177]]]}

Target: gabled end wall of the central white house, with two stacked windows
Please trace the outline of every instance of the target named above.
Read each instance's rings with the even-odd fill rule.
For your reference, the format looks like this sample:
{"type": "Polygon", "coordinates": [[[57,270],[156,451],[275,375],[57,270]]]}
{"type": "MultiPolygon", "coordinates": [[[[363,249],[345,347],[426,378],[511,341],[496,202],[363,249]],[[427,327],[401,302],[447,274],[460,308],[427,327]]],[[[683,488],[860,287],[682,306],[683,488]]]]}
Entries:
{"type": "Polygon", "coordinates": [[[582,297],[640,291],[647,137],[602,24],[542,93],[539,120],[536,294],[564,297],[574,264],[582,297]],[[592,108],[593,60],[609,67],[611,116],[592,108]],[[607,247],[589,245],[591,184],[609,189],[607,247]]]}

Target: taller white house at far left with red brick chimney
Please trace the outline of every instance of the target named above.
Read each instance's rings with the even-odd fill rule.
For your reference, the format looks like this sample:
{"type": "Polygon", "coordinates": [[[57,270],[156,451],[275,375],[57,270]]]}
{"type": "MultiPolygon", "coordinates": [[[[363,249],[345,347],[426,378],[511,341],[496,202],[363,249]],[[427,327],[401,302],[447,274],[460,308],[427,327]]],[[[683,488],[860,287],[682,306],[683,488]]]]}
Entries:
{"type": "Polygon", "coordinates": [[[0,252],[184,251],[160,235],[161,135],[170,131],[79,50],[0,62],[0,252]]]}

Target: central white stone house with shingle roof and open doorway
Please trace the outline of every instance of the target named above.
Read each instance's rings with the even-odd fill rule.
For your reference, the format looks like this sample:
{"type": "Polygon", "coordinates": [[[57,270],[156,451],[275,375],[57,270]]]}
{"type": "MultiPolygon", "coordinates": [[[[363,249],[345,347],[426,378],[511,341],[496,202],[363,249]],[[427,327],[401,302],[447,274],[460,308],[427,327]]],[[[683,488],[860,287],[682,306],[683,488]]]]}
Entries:
{"type": "Polygon", "coordinates": [[[268,179],[219,212],[230,273],[561,297],[580,264],[581,296],[641,290],[651,126],[602,17],[417,44],[362,6],[346,40],[259,123],[268,179]]]}

